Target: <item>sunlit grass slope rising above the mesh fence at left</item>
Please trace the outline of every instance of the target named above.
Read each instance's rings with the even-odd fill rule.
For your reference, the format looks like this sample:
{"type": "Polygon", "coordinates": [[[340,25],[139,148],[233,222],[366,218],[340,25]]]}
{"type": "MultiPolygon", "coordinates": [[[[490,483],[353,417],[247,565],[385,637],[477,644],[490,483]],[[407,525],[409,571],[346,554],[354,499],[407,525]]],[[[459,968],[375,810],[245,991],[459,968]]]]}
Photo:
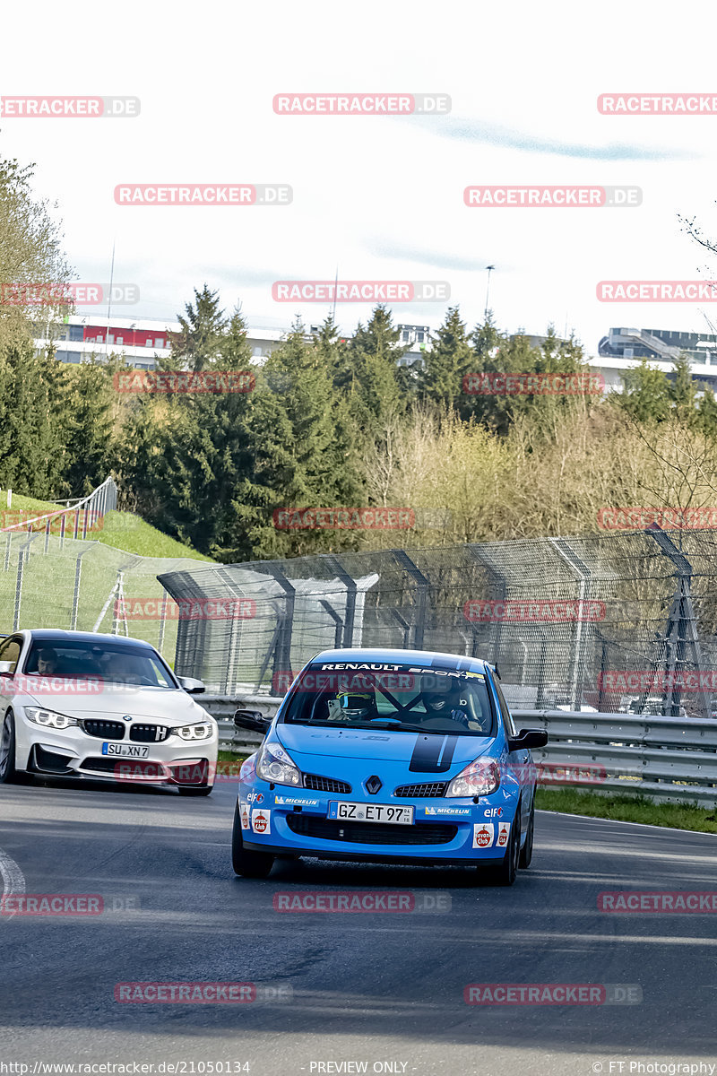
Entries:
{"type": "MultiPolygon", "coordinates": [[[[16,513],[18,512],[23,512],[28,519],[32,519],[35,515],[44,515],[46,512],[56,512],[63,507],[61,504],[54,505],[47,500],[35,500],[34,497],[24,497],[13,493],[12,508],[9,509],[6,507],[6,496],[8,493],[3,490],[0,493],[0,526],[9,526],[10,524],[17,523],[18,518],[16,513]]],[[[59,520],[59,516],[57,519],[59,520]]],[[[42,528],[43,525],[37,524],[37,526],[42,528]]],[[[59,535],[59,522],[53,523],[51,530],[53,536],[56,537],[59,535]]],[[[67,526],[66,536],[71,538],[74,527],[74,514],[72,512],[69,513],[67,526]]],[[[20,527],[17,527],[17,533],[20,529],[20,527]]],[[[82,538],[82,515],[80,518],[78,536],[82,538]]],[[[184,546],[182,542],[176,541],[176,539],[170,538],[169,535],[162,534],[161,530],[157,530],[156,527],[145,523],[139,515],[133,515],[131,512],[107,512],[103,520],[97,522],[94,529],[88,529],[87,540],[99,541],[104,546],[121,549],[126,553],[137,553],[139,556],[187,556],[192,561],[213,563],[211,557],[204,556],[203,553],[198,553],[191,546],[184,546]]]]}

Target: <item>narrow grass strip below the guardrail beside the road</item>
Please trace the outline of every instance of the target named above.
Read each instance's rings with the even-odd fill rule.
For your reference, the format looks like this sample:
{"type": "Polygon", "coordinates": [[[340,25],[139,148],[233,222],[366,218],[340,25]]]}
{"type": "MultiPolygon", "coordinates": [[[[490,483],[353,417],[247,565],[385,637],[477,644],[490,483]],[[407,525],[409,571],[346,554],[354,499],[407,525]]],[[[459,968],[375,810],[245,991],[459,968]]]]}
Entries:
{"type": "Polygon", "coordinates": [[[539,810],[556,810],[565,815],[587,815],[616,822],[643,822],[671,830],[693,830],[717,833],[714,807],[696,807],[689,803],[653,803],[641,795],[596,795],[576,789],[539,789],[535,796],[539,810]]]}

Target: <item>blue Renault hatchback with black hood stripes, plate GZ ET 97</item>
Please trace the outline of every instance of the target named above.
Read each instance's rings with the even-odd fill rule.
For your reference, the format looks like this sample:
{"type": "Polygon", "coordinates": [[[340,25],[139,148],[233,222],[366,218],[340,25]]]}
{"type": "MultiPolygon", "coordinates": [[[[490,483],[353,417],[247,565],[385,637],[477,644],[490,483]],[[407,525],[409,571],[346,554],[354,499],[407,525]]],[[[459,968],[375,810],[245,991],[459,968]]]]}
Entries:
{"type": "Polygon", "coordinates": [[[543,730],[516,732],[496,669],[419,650],[329,650],[296,678],[243,764],[238,875],[277,858],[476,867],[512,886],[533,847],[543,730]]]}

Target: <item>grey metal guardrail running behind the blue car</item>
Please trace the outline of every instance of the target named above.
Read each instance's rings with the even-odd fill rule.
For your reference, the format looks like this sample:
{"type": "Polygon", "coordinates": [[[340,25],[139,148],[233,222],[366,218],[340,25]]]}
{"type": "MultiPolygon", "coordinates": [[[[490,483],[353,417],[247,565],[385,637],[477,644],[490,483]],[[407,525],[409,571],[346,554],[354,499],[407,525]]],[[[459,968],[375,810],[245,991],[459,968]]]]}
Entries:
{"type": "MultiPolygon", "coordinates": [[[[221,749],[240,753],[254,751],[261,735],[234,728],[234,710],[273,716],[282,699],[205,695],[201,702],[219,722],[221,749]]],[[[517,709],[513,718],[518,727],[545,728],[550,737],[533,750],[543,785],[717,805],[717,720],[517,709]]]]}

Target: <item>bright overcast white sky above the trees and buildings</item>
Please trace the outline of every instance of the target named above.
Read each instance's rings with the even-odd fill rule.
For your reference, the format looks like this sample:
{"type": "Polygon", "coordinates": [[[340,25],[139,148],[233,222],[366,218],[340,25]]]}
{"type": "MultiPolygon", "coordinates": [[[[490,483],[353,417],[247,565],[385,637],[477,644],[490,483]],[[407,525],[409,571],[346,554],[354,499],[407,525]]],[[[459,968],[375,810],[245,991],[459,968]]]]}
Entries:
{"type": "MultiPolygon", "coordinates": [[[[554,322],[594,354],[611,325],[708,330],[708,303],[605,303],[596,285],[714,272],[677,213],[717,237],[717,115],[601,115],[597,98],[717,97],[712,3],[37,0],[2,23],[2,95],[141,99],[132,119],[0,119],[0,154],[37,164],[78,278],[109,280],[116,242],[115,280],[141,292],[118,314],[173,317],[206,281],[252,325],[316,322],[330,305],[277,303],[272,282],[338,267],[341,280],[447,281],[472,326],[494,265],[489,305],[510,331],[554,322]],[[276,115],[285,91],[442,93],[453,108],[276,115]],[[120,183],[286,183],[293,201],[117,206],[120,183]],[[477,184],[628,184],[643,203],[469,209],[477,184]]],[[[445,308],[395,306],[395,320],[436,327],[445,308]]],[[[350,330],[370,309],[336,316],[350,330]]]]}

